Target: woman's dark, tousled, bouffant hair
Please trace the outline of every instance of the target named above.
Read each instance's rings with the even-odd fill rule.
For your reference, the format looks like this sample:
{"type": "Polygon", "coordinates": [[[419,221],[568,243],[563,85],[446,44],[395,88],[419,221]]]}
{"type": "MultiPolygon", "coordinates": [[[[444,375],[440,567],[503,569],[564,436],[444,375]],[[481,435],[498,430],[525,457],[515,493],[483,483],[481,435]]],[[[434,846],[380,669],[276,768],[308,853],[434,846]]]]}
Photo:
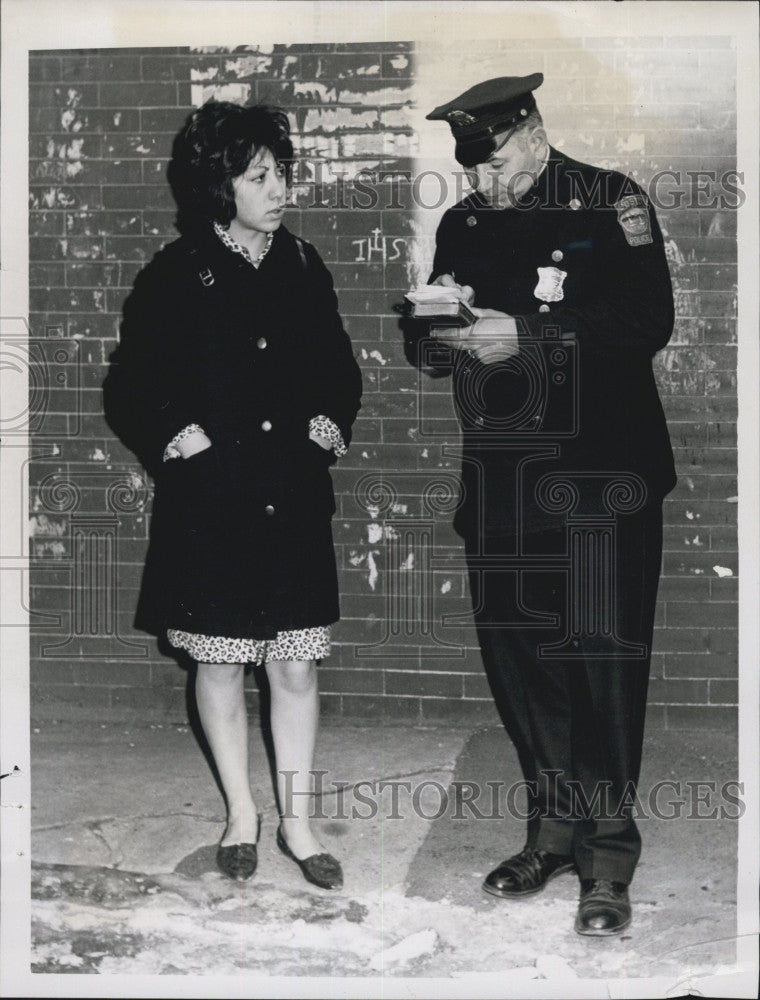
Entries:
{"type": "Polygon", "coordinates": [[[260,149],[271,152],[290,184],[293,143],[288,116],[280,108],[207,101],[188,116],[168,169],[180,232],[208,222],[229,225],[235,218],[232,179],[245,172],[260,149]]]}

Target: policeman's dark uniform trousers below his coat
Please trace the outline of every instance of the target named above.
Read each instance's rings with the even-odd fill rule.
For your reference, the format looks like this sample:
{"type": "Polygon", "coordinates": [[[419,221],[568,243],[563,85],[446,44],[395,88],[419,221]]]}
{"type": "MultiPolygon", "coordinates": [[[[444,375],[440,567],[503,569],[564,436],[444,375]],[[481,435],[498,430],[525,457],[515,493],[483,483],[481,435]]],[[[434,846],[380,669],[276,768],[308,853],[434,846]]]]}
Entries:
{"type": "Polygon", "coordinates": [[[641,853],[631,806],[641,764],[662,509],[618,516],[614,556],[601,561],[601,585],[598,576],[589,584],[572,568],[568,538],[564,530],[526,534],[524,559],[518,568],[510,560],[503,569],[495,554],[514,551],[514,540],[491,539],[485,546],[468,540],[475,624],[491,691],[527,784],[527,846],[574,856],[581,878],[628,884],[641,853]],[[540,568],[531,565],[537,557],[540,568]],[[602,607],[602,591],[610,595],[609,610],[602,607]],[[611,639],[600,639],[598,628],[575,627],[579,601],[592,611],[596,602],[591,621],[611,624],[611,639]],[[555,624],[540,622],[550,614],[555,624]],[[560,652],[540,648],[558,643],[560,652]]]}

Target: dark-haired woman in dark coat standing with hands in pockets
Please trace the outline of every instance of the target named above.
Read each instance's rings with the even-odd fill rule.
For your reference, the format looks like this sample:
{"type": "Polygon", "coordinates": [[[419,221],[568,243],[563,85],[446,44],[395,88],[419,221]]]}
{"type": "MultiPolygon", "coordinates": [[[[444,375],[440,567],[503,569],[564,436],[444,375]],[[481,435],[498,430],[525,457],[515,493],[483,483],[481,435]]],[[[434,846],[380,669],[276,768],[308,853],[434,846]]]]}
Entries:
{"type": "Polygon", "coordinates": [[[247,662],[264,663],[282,821],[310,882],[342,885],[309,825],[315,661],[339,617],[329,465],[361,375],[314,247],[282,226],[284,112],[209,102],[174,144],[180,239],[138,275],[104,384],[109,422],[155,478],[136,624],[197,661],[196,699],[227,800],[217,852],[256,869],[247,662]]]}

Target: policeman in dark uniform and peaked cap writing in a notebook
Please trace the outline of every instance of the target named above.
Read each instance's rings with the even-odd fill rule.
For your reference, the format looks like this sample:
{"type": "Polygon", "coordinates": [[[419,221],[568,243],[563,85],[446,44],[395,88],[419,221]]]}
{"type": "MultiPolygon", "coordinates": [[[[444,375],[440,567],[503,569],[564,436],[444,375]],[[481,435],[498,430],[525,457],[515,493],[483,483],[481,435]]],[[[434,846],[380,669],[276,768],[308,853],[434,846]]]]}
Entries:
{"type": "MultiPolygon", "coordinates": [[[[430,281],[477,317],[407,337],[451,375],[487,676],[529,789],[524,848],[483,888],[580,878],[575,929],[631,920],[632,817],[673,454],[652,357],[673,328],[654,211],[628,177],[549,145],[540,73],[478,84],[447,122],[475,192],[443,216],[430,281]]],[[[410,354],[410,357],[412,355],[410,354]]]]}

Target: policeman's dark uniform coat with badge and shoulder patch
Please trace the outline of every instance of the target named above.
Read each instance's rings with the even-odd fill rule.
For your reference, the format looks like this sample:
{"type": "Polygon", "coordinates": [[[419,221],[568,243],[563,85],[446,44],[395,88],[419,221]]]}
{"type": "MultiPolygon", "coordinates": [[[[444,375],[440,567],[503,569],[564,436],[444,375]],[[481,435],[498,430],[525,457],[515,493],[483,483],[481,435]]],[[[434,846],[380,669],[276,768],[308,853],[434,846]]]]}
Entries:
{"type": "Polygon", "coordinates": [[[658,504],[676,478],[652,357],[672,333],[673,293],[656,216],[631,179],[550,149],[520,206],[494,209],[476,193],[444,215],[430,280],[446,273],[475,289],[476,306],[515,316],[521,342],[517,358],[489,366],[447,349],[423,359],[454,379],[459,533],[561,526],[536,499],[547,472],[634,473],[658,504]],[[640,234],[620,221],[626,197],[645,206],[648,225],[627,221],[640,234]],[[548,269],[565,273],[555,302],[540,297],[548,269]]]}

